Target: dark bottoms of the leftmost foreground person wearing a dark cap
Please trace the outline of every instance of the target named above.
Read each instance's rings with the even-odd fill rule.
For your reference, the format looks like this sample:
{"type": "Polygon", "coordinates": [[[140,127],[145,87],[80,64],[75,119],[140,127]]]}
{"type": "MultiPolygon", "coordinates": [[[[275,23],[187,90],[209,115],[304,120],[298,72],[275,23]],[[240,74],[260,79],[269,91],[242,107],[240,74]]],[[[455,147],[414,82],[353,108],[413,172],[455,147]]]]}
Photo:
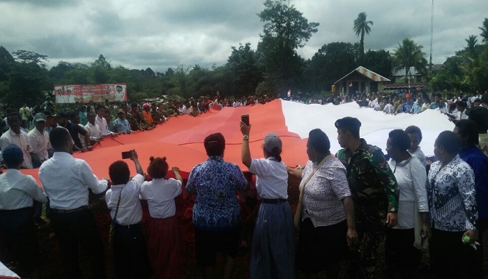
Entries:
{"type": "Polygon", "coordinates": [[[30,277],[38,267],[39,246],[32,207],[0,210],[0,259],[17,260],[20,276],[30,277]]]}

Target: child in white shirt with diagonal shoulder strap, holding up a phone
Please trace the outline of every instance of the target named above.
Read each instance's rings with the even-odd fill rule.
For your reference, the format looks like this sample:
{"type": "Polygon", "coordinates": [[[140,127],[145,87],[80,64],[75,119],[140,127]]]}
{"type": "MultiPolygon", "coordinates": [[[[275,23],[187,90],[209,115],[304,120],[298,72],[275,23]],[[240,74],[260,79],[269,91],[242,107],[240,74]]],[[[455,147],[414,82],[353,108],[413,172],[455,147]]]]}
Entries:
{"type": "Polygon", "coordinates": [[[148,278],[151,267],[147,259],[146,241],[142,234],[142,207],[139,201],[144,171],[135,150],[130,151],[137,174],[130,179],[130,170],[122,160],[109,167],[112,188],[105,193],[105,202],[114,224],[114,259],[116,278],[148,278]]]}

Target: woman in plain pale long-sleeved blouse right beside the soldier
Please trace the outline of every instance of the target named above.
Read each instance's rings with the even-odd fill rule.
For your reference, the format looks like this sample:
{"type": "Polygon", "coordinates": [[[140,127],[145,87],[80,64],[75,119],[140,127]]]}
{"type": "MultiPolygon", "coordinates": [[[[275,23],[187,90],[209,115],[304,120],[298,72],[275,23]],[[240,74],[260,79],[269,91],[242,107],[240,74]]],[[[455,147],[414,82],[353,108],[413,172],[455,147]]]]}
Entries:
{"type": "Polygon", "coordinates": [[[429,206],[425,183],[425,167],[408,149],[409,135],[404,130],[392,130],[388,134],[386,152],[390,156],[388,164],[395,174],[400,190],[398,203],[398,224],[386,230],[385,258],[386,277],[413,278],[420,263],[420,250],[413,246],[415,241],[415,214],[422,223],[421,235],[430,235],[429,206]],[[417,211],[417,212],[415,212],[417,211]]]}

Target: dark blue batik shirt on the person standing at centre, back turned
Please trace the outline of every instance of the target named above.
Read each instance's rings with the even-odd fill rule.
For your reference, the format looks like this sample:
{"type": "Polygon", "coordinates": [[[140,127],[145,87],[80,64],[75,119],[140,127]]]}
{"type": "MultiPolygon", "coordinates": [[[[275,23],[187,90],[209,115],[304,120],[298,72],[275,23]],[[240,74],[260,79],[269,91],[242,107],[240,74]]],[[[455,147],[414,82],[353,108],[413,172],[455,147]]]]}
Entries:
{"type": "Polygon", "coordinates": [[[225,231],[241,223],[236,190],[244,190],[247,180],[234,163],[210,156],[196,165],[188,176],[186,190],[197,194],[193,206],[193,225],[206,231],[225,231]]]}

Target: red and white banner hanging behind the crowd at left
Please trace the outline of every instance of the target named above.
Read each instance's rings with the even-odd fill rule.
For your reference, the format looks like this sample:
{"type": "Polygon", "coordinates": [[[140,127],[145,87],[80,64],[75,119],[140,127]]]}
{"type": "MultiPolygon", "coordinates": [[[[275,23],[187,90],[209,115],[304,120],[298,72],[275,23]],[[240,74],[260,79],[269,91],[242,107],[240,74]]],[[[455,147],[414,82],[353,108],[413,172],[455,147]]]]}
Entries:
{"type": "Polygon", "coordinates": [[[56,103],[95,103],[122,102],[127,100],[127,85],[118,84],[56,84],[54,85],[56,103]]]}

